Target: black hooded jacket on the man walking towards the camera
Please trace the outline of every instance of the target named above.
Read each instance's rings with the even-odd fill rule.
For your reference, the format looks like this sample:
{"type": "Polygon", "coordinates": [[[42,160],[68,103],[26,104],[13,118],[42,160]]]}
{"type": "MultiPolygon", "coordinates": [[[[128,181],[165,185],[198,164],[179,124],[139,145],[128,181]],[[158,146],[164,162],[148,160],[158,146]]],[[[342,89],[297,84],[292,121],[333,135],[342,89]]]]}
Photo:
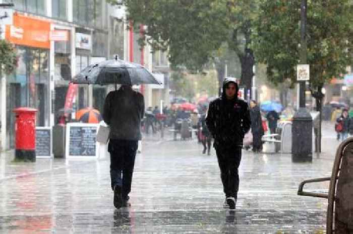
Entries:
{"type": "Polygon", "coordinates": [[[208,108],[206,124],[214,137],[214,147],[233,148],[243,145],[245,133],[250,129],[251,119],[248,104],[238,99],[239,87],[235,79],[223,81],[222,96],[213,100],[208,108]],[[225,89],[229,83],[236,85],[236,95],[228,100],[225,89]]]}

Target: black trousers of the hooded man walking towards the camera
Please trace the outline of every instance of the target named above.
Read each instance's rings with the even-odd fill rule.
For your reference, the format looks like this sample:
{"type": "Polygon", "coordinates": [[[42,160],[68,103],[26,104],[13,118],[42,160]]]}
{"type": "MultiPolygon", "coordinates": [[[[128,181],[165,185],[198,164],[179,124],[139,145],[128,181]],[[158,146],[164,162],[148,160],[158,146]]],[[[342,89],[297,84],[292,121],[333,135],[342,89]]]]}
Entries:
{"type": "Polygon", "coordinates": [[[237,199],[239,189],[238,168],[242,159],[242,148],[216,149],[225,197],[237,199]]]}

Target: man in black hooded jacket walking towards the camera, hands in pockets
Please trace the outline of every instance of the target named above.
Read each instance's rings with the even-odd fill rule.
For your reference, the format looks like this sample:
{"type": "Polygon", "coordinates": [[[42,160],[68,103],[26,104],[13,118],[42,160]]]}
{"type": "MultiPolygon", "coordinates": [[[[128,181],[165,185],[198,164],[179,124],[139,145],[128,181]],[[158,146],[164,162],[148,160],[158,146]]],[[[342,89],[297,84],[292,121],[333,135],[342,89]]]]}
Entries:
{"type": "Polygon", "coordinates": [[[210,103],[206,117],[207,127],[214,138],[225,205],[230,209],[234,209],[237,203],[243,138],[251,125],[248,104],[238,99],[238,91],[236,79],[226,78],[222,96],[210,103]]]}

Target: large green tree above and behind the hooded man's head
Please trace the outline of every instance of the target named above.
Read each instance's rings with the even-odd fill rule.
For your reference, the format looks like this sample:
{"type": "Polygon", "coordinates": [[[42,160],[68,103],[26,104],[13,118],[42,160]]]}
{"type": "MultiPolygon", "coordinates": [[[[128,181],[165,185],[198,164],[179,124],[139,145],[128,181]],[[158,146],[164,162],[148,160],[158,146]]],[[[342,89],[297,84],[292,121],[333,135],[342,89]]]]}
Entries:
{"type": "MultiPolygon", "coordinates": [[[[258,0],[125,0],[129,19],[136,30],[147,26],[141,44],[150,43],[154,50],[167,50],[172,68],[186,67],[201,71],[215,63],[218,80],[224,78],[227,48],[241,61],[242,84],[251,87],[254,56],[250,48],[251,27],[258,0]]],[[[117,4],[117,0],[109,0],[117,4]]]]}

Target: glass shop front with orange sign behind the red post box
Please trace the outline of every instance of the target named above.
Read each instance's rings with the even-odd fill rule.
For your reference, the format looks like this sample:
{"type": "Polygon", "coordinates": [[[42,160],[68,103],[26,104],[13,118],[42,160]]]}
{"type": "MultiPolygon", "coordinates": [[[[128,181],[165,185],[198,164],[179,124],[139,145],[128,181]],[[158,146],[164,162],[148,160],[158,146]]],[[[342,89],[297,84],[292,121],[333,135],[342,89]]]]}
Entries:
{"type": "Polygon", "coordinates": [[[7,145],[14,146],[13,109],[37,109],[36,125],[49,126],[50,22],[14,14],[5,37],[16,46],[18,64],[7,77],[7,145]]]}

